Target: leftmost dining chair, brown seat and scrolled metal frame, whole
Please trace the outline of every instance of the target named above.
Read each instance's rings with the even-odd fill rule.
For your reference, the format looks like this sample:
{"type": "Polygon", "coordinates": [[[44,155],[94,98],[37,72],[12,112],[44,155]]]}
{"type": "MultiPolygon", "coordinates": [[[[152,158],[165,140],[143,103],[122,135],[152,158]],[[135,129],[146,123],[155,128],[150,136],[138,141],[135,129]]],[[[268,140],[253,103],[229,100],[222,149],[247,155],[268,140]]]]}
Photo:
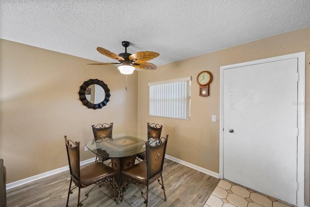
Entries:
{"type": "Polygon", "coordinates": [[[72,194],[74,189],[78,188],[78,207],[81,207],[83,206],[82,202],[88,198],[89,193],[93,190],[94,187],[96,187],[96,185],[94,185],[93,188],[85,194],[86,198],[82,201],[80,201],[81,189],[93,184],[100,184],[101,186],[105,182],[109,182],[109,184],[112,186],[111,190],[113,191],[113,198],[116,201],[114,185],[115,171],[102,162],[95,162],[81,169],[79,159],[79,142],[68,140],[67,136],[64,136],[64,141],[66,143],[71,175],[66,207],[69,203],[69,196],[72,194]],[[72,182],[74,182],[76,186],[71,189],[72,182]]]}

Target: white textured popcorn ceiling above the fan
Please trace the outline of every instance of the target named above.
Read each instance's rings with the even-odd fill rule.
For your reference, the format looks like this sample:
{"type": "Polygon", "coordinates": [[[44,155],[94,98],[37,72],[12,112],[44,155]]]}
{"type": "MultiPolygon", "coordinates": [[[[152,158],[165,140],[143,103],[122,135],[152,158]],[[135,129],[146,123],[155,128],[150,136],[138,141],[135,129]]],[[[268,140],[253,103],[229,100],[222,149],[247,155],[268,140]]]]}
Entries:
{"type": "Polygon", "coordinates": [[[0,0],[0,38],[98,62],[122,41],[158,66],[309,26],[310,0],[0,0]]]}

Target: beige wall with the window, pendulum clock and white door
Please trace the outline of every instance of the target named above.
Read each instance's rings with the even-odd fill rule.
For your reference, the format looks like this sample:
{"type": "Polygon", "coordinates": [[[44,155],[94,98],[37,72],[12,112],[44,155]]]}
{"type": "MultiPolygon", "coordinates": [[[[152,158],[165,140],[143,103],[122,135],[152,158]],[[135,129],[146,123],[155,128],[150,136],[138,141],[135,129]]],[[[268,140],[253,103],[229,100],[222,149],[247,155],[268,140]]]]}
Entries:
{"type": "MultiPolygon", "coordinates": [[[[208,47],[207,45],[205,47],[208,47]]],[[[309,206],[309,112],[310,112],[310,28],[288,32],[244,45],[219,50],[179,62],[159,66],[156,71],[139,72],[138,128],[145,122],[163,125],[162,134],[169,134],[167,154],[219,172],[219,67],[280,55],[306,51],[306,170],[305,200],[309,206]],[[211,71],[210,96],[199,96],[197,75],[211,71]],[[148,82],[191,76],[191,119],[180,120],[148,115],[148,82]],[[217,115],[217,122],[211,115],[217,115]]],[[[172,54],[171,54],[172,55],[172,54]]],[[[160,56],[159,56],[160,57],[160,56]]]]}

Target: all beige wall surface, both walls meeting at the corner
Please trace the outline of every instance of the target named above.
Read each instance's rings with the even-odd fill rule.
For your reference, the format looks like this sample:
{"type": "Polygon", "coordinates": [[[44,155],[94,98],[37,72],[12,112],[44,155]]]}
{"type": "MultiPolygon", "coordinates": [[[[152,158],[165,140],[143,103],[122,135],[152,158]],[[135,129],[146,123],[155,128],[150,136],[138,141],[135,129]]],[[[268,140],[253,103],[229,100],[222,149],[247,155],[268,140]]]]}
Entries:
{"type": "Polygon", "coordinates": [[[168,155],[218,173],[219,67],[301,51],[306,51],[307,63],[309,206],[310,28],[135,72],[128,76],[127,91],[126,77],[115,66],[87,65],[91,61],[0,39],[0,158],[7,167],[7,183],[67,166],[63,135],[81,142],[81,160],[92,158],[84,144],[93,137],[91,125],[100,122],[113,122],[114,132],[146,132],[146,122],[162,124],[162,134],[170,137],[168,155]],[[208,97],[198,95],[196,77],[202,70],[214,76],[208,97]],[[186,76],[192,76],[191,119],[149,116],[147,83],[186,76]],[[103,80],[111,90],[102,109],[88,109],[78,99],[79,86],[89,79],[103,80]],[[217,122],[211,122],[212,114],[217,122]]]}

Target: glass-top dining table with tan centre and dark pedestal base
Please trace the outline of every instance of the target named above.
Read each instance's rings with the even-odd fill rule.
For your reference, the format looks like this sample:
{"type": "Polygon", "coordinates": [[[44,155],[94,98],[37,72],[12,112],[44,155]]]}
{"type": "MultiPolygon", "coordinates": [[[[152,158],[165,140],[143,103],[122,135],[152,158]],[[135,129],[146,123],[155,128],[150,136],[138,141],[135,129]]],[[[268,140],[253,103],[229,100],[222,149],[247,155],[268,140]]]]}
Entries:
{"type": "MultiPolygon", "coordinates": [[[[145,152],[147,134],[126,132],[112,134],[110,137],[92,139],[86,143],[86,147],[98,156],[111,159],[111,167],[116,171],[115,183],[117,197],[122,186],[121,174],[126,168],[135,164],[137,154],[145,152]],[[106,151],[102,153],[103,151],[106,151]]],[[[118,199],[117,199],[118,203],[118,199]]]]}

